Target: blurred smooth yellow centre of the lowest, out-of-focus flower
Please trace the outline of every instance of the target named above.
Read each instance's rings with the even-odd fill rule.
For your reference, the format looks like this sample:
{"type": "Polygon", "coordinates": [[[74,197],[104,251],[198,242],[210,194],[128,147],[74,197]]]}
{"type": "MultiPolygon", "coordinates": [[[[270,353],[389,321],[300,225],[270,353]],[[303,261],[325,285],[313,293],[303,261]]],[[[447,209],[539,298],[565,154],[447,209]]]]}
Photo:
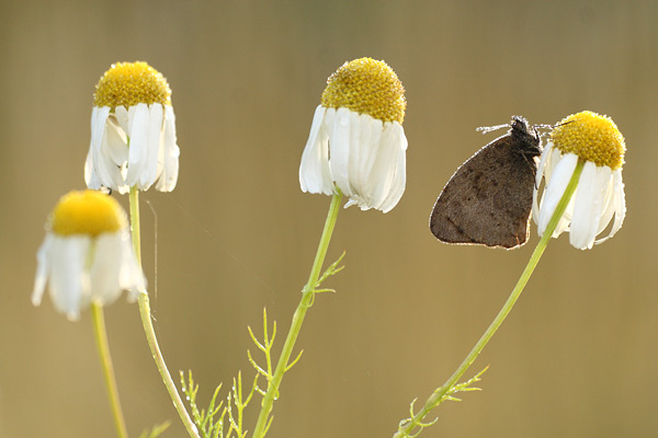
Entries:
{"type": "Polygon", "coordinates": [[[97,237],[126,227],[123,208],[112,196],[97,191],[72,191],[64,195],[50,216],[53,232],[59,235],[97,237]]]}

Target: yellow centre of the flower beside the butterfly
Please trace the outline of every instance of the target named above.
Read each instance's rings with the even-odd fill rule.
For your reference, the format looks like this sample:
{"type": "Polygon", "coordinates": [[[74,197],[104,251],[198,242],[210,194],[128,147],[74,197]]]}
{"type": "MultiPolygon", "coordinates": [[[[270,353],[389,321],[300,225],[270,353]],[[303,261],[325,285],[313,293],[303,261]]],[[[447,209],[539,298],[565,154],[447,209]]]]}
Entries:
{"type": "Polygon", "coordinates": [[[553,143],[564,153],[575,153],[598,166],[613,171],[624,164],[624,136],[608,116],[591,111],[563,118],[551,132],[553,143]]]}

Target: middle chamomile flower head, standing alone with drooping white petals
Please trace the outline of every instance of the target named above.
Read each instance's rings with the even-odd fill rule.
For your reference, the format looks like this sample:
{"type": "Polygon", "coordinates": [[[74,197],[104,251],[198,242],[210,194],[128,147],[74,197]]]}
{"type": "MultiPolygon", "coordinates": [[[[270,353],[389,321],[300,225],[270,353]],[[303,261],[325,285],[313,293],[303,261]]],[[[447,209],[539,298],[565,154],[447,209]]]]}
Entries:
{"type": "Polygon", "coordinates": [[[345,62],[327,80],[302,154],[303,192],[338,187],[362,210],[393,209],[405,192],[405,89],[383,61],[345,62]]]}

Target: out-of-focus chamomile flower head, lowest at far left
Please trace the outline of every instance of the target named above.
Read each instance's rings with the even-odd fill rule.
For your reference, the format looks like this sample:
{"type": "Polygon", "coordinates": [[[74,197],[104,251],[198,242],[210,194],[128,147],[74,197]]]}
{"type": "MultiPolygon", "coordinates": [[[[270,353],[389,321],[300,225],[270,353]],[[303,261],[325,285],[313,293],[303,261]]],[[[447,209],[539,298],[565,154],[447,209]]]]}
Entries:
{"type": "Polygon", "coordinates": [[[39,306],[46,284],[55,309],[69,320],[91,302],[129,299],[146,288],[118,203],[95,191],[70,192],[53,210],[37,258],[32,302],[39,306]]]}

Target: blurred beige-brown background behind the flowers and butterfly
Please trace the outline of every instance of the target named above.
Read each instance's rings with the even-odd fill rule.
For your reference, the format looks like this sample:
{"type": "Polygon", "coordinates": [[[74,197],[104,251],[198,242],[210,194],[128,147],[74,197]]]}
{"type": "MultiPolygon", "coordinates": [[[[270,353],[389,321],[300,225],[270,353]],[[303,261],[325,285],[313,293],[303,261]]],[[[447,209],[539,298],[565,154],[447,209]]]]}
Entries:
{"type": "MultiPolygon", "coordinates": [[[[30,302],[46,216],[83,187],[103,71],[146,60],[173,90],[179,185],[141,197],[143,251],[168,365],[194,370],[205,403],[251,376],[263,307],[283,343],[329,206],[299,189],[302,150],[326,78],[362,56],[407,89],[407,192],[387,215],[341,211],[328,261],[347,251],[347,268],[307,314],[269,436],[390,437],[450,376],[537,237],[512,252],[440,244],[435,197],[501,134],[476,127],[582,110],[626,138],[624,228],[592,251],[551,243],[468,373],[490,365],[484,391],[422,437],[656,436],[657,19],[654,1],[0,2],[0,437],[114,436],[89,312],[70,323],[30,302]]],[[[132,435],[169,418],[164,437],[183,437],[137,307],[105,316],[132,435]]]]}

